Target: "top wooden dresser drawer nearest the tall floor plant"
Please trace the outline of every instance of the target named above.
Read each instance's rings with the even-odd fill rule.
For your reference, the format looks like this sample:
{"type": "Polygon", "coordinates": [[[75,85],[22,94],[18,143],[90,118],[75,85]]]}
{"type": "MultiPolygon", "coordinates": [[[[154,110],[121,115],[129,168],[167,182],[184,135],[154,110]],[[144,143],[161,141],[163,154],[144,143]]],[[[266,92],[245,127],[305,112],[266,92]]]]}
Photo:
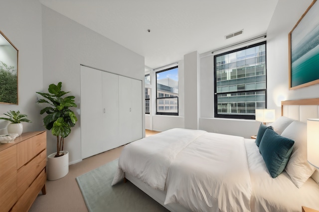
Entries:
{"type": "Polygon", "coordinates": [[[26,164],[46,148],[46,132],[31,137],[17,144],[17,168],[26,164]]]}

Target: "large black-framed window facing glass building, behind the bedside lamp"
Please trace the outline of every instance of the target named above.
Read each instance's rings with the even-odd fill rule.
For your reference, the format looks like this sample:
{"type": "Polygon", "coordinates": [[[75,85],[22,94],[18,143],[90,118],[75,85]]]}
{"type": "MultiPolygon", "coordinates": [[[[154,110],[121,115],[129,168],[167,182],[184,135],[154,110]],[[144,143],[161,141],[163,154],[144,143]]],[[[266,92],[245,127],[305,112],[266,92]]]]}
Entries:
{"type": "Polygon", "coordinates": [[[215,117],[255,119],[266,108],[266,41],[214,56],[215,117]]]}

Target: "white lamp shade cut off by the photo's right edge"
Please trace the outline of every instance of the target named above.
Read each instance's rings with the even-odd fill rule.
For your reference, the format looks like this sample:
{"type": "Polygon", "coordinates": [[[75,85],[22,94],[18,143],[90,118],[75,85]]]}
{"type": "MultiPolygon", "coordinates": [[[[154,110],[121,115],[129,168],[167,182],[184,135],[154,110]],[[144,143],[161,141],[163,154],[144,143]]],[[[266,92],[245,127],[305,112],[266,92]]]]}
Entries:
{"type": "Polygon", "coordinates": [[[319,169],[319,119],[307,120],[308,162],[319,169]]]}

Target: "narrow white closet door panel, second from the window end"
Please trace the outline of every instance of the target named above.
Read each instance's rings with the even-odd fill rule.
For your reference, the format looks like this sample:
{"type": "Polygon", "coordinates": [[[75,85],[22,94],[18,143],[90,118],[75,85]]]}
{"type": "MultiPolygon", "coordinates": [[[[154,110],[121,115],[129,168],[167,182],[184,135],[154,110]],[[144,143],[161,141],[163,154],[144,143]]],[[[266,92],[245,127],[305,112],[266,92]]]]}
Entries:
{"type": "Polygon", "coordinates": [[[119,145],[123,145],[132,141],[131,78],[119,76],[119,102],[119,145]]]}

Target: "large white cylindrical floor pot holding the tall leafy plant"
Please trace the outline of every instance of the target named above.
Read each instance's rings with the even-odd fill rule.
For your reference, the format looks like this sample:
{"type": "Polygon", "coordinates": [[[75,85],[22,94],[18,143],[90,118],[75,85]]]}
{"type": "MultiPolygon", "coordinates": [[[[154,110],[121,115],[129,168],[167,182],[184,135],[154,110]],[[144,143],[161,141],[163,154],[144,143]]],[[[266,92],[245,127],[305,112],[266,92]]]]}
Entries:
{"type": "Polygon", "coordinates": [[[55,153],[52,153],[48,156],[48,161],[46,164],[46,174],[48,180],[57,180],[69,172],[69,152],[60,151],[64,155],[60,157],[54,157],[55,153]]]}

